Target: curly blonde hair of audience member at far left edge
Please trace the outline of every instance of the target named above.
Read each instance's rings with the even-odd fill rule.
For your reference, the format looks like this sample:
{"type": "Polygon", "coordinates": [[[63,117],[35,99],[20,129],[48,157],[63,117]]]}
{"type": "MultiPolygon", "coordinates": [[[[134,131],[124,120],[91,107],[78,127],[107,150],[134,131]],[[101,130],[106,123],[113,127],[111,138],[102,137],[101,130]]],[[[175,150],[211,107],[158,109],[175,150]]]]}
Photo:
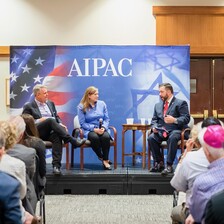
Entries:
{"type": "Polygon", "coordinates": [[[7,151],[17,142],[17,128],[9,121],[0,121],[0,129],[5,135],[5,151],[7,151]]]}

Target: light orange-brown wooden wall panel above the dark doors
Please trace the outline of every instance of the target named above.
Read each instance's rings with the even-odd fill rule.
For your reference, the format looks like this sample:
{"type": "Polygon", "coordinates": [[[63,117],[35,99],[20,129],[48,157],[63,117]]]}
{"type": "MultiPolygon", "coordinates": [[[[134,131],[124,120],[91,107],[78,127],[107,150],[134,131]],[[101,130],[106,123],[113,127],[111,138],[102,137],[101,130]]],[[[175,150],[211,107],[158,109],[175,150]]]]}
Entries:
{"type": "Polygon", "coordinates": [[[191,55],[224,55],[224,7],[153,7],[157,45],[189,44],[191,55]]]}

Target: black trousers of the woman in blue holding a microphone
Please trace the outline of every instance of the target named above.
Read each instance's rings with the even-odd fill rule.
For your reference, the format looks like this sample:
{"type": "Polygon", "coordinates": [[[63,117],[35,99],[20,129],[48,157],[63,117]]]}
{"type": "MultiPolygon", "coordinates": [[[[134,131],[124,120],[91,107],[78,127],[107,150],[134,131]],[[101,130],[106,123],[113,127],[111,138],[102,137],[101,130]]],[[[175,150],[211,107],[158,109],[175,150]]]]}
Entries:
{"type": "Polygon", "coordinates": [[[96,155],[103,160],[108,160],[110,151],[109,133],[105,131],[102,135],[98,135],[91,131],[88,134],[88,140],[90,140],[91,147],[96,155]]]}

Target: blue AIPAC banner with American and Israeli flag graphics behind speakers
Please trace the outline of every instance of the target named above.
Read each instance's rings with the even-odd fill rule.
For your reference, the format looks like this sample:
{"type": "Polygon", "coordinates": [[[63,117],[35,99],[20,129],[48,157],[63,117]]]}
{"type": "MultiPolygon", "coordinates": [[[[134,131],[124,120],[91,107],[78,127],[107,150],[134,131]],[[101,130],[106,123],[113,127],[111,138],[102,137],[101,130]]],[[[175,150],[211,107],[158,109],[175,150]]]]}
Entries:
{"type": "MultiPolygon", "coordinates": [[[[122,124],[126,118],[150,118],[159,99],[158,85],[170,82],[176,97],[190,100],[189,46],[12,46],[10,48],[10,110],[20,114],[34,97],[32,88],[42,83],[49,99],[70,133],[85,89],[96,86],[99,99],[108,106],[110,124],[118,133],[118,163],[121,162],[122,124]]],[[[136,135],[142,150],[142,136],[136,135]]],[[[131,151],[131,134],[126,133],[131,151]]],[[[75,150],[75,163],[79,162],[75,150]]],[[[48,155],[50,156],[50,155],[48,155]]],[[[110,153],[113,158],[113,150],[110,153]]],[[[141,157],[136,157],[141,163],[141,157]]],[[[125,158],[125,163],[131,158],[125,158]]],[[[99,163],[92,150],[85,163],[99,163]]]]}

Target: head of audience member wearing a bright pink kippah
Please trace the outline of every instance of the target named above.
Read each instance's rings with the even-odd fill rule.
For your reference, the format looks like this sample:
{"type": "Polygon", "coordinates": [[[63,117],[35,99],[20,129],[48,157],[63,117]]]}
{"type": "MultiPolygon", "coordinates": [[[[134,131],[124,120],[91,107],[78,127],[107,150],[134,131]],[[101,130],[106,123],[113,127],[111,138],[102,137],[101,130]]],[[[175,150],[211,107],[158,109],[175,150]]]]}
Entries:
{"type": "Polygon", "coordinates": [[[199,133],[198,138],[210,163],[224,156],[224,129],[222,126],[205,127],[199,133]]]}

